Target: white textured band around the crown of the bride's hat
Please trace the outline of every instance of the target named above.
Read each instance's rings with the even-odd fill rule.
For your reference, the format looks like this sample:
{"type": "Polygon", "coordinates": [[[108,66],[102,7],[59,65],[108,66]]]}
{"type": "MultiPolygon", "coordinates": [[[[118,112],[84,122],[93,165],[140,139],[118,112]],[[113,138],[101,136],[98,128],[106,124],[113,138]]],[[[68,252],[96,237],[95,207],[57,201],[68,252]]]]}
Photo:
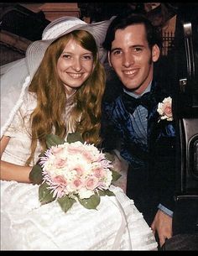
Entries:
{"type": "Polygon", "coordinates": [[[58,37],[60,34],[66,32],[68,29],[76,26],[76,25],[86,25],[86,23],[82,20],[66,20],[61,24],[56,24],[51,29],[49,29],[46,33],[43,34],[43,39],[54,39],[58,37]]]}

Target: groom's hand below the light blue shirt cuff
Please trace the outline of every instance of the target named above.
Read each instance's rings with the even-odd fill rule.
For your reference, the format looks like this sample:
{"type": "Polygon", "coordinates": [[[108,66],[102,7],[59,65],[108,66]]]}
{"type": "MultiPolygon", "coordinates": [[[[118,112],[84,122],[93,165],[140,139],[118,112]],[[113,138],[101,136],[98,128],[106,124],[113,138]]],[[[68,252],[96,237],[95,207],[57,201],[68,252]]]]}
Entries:
{"type": "Polygon", "coordinates": [[[172,237],[172,217],[159,210],[154,217],[151,228],[154,233],[158,233],[159,244],[162,247],[165,239],[172,237]]]}

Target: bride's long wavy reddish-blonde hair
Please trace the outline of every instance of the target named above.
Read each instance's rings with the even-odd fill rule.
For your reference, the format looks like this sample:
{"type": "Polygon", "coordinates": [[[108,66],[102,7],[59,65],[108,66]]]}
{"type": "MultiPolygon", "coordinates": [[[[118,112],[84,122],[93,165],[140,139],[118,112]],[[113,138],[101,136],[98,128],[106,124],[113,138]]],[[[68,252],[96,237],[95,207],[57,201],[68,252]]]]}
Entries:
{"type": "Polygon", "coordinates": [[[32,142],[31,154],[26,162],[29,165],[34,158],[37,140],[46,149],[45,136],[53,133],[65,137],[66,126],[65,87],[57,76],[56,64],[69,39],[75,39],[84,49],[90,50],[94,58],[94,70],[91,76],[79,87],[74,95],[75,107],[71,111],[71,120],[76,131],[88,143],[100,144],[101,104],[105,88],[105,71],[98,60],[97,46],[91,34],[84,30],[75,30],[56,39],[44,54],[44,58],[29,85],[29,91],[37,95],[37,107],[31,114],[32,142]]]}

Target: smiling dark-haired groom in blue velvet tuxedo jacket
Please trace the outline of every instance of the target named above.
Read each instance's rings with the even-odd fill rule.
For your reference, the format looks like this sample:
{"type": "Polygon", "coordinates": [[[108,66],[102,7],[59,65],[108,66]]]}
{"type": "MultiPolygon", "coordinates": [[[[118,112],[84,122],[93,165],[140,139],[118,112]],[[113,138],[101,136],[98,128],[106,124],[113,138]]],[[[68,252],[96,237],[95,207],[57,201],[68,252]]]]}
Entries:
{"type": "MultiPolygon", "coordinates": [[[[111,150],[119,144],[129,163],[127,195],[162,246],[172,236],[175,121],[173,85],[154,78],[161,38],[147,18],[130,13],[112,20],[103,47],[122,88],[113,99],[109,95],[103,99],[103,147],[111,150]]],[[[114,85],[108,86],[115,94],[114,85]]]]}

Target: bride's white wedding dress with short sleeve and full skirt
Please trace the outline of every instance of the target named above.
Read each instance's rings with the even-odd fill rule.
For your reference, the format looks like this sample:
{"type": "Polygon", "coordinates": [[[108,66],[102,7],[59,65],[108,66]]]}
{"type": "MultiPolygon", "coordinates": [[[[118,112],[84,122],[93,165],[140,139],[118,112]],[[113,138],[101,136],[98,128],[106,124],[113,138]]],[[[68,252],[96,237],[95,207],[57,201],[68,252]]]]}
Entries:
{"type": "MultiPolygon", "coordinates": [[[[24,165],[34,107],[30,95],[7,128],[3,160],[24,165]]],[[[121,188],[112,185],[116,196],[102,196],[96,210],[76,202],[66,213],[56,201],[41,206],[38,188],[1,180],[1,250],[157,250],[151,228],[121,188]]]]}

